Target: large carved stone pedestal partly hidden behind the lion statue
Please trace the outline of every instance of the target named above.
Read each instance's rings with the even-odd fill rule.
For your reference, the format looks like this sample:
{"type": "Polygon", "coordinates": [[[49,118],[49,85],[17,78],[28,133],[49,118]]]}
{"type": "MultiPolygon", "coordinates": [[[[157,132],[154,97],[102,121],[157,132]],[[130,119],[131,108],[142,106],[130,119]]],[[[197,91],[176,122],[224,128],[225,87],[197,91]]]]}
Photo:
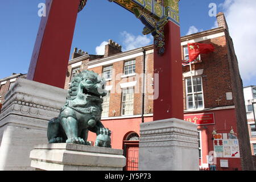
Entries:
{"type": "Polygon", "coordinates": [[[19,78],[0,114],[0,171],[32,170],[30,151],[48,143],[47,123],[59,115],[67,90],[19,78]]]}

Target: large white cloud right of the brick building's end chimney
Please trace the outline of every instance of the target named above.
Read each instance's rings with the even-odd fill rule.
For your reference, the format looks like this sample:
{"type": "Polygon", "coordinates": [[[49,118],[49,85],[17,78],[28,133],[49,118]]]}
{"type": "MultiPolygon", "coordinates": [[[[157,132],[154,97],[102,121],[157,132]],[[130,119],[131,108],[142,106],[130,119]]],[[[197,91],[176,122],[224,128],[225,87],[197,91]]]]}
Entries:
{"type": "Polygon", "coordinates": [[[254,81],[255,84],[256,1],[225,0],[219,7],[224,10],[228,22],[243,83],[254,81]]]}

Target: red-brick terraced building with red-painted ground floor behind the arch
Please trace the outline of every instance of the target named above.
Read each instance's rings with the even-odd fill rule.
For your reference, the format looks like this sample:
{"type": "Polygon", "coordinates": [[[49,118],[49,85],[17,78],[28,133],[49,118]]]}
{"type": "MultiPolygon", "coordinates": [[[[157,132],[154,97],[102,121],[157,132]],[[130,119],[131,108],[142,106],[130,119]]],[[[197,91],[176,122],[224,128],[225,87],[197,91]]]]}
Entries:
{"type": "MultiPolygon", "coordinates": [[[[215,49],[192,63],[193,93],[189,66],[182,68],[184,120],[198,125],[201,168],[209,168],[211,152],[218,152],[218,170],[253,170],[238,62],[224,14],[217,15],[217,22],[218,28],[181,37],[183,60],[188,56],[188,42],[213,44],[215,49]],[[191,105],[193,96],[195,107],[191,105]],[[216,134],[221,136],[217,143],[216,134]],[[228,136],[234,136],[234,141],[238,138],[239,145],[222,146],[220,140],[221,143],[228,141],[228,136]],[[216,146],[218,144],[220,146],[216,146]]],[[[102,123],[112,130],[112,147],[124,150],[127,170],[136,169],[138,162],[140,123],[153,119],[153,93],[157,97],[158,88],[153,61],[153,46],[122,52],[119,44],[109,40],[104,55],[89,55],[76,48],[67,69],[65,89],[69,88],[76,69],[89,69],[105,77],[109,93],[102,104],[102,123]]],[[[1,92],[4,92],[2,87],[0,95],[1,92]]],[[[88,140],[95,138],[96,135],[90,133],[88,140]]]]}

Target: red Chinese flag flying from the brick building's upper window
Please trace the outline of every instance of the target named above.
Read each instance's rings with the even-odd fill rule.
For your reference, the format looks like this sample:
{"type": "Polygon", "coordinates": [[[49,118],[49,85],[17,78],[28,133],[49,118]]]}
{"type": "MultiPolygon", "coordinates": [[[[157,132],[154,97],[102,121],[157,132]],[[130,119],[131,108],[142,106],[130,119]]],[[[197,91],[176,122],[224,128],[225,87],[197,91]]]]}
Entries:
{"type": "Polygon", "coordinates": [[[214,51],[212,44],[188,43],[189,61],[195,60],[201,53],[210,53],[214,51]]]}

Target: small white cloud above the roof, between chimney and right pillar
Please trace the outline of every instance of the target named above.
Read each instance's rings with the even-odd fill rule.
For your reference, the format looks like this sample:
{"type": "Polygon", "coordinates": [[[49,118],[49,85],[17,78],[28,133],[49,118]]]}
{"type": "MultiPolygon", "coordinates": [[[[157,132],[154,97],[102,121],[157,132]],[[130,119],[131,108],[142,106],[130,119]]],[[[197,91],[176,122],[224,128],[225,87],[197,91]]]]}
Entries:
{"type": "Polygon", "coordinates": [[[152,44],[152,35],[138,35],[135,36],[126,31],[121,32],[123,51],[129,51],[131,49],[147,46],[152,44]]]}

